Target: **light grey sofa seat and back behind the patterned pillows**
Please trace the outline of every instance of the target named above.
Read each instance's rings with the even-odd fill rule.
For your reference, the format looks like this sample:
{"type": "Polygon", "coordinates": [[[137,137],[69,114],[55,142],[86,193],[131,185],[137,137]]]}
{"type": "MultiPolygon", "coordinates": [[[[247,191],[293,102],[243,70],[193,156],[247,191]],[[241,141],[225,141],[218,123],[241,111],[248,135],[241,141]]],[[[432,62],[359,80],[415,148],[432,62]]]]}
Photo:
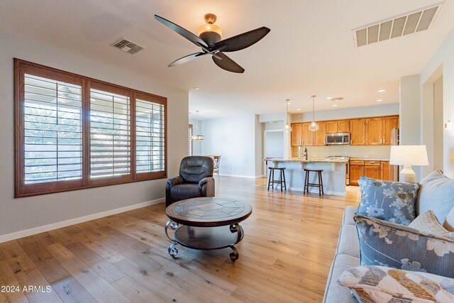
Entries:
{"type": "MultiPolygon", "coordinates": [[[[436,171],[421,180],[416,199],[416,216],[432,210],[445,228],[454,228],[454,180],[436,171]]],[[[360,243],[353,217],[357,206],[345,208],[338,245],[331,269],[328,273],[323,302],[358,302],[348,287],[338,285],[341,274],[350,268],[360,266],[360,243]]],[[[453,228],[453,229],[451,229],[453,228]]]]}

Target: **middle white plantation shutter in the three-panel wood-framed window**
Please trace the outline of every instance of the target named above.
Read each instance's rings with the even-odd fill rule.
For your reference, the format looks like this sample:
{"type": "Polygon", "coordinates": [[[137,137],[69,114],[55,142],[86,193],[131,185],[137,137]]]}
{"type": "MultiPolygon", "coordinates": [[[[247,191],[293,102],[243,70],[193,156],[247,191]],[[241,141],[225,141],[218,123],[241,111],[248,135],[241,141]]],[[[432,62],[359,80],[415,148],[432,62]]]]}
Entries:
{"type": "Polygon", "coordinates": [[[131,98],[90,89],[90,177],[131,174],[131,98]]]}

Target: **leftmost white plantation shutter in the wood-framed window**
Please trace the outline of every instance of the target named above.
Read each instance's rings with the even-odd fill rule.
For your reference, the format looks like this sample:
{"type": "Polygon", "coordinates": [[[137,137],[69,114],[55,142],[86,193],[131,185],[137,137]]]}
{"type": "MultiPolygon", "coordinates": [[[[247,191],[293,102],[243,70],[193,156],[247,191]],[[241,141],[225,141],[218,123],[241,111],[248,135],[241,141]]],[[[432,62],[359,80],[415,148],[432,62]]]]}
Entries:
{"type": "Polygon", "coordinates": [[[24,75],[25,184],[82,179],[82,87],[24,75]]]}

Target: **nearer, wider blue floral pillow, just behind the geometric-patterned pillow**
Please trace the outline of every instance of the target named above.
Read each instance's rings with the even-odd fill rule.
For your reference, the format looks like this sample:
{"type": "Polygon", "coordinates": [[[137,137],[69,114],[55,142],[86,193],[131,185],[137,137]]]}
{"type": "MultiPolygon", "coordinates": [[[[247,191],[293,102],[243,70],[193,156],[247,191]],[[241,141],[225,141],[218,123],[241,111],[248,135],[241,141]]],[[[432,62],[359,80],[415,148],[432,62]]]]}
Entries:
{"type": "Polygon", "coordinates": [[[454,241],[414,228],[365,216],[355,216],[361,265],[454,277],[454,241]]]}

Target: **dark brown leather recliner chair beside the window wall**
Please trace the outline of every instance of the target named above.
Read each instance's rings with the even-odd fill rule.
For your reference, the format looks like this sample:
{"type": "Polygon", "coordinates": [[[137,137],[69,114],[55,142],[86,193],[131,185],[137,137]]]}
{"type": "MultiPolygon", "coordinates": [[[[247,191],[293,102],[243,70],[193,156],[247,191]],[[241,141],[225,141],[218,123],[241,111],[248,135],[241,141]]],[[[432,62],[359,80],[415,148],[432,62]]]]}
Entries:
{"type": "Polygon", "coordinates": [[[165,206],[173,202],[196,197],[214,197],[214,162],[199,155],[183,158],[179,176],[165,184],[165,206]]]}

